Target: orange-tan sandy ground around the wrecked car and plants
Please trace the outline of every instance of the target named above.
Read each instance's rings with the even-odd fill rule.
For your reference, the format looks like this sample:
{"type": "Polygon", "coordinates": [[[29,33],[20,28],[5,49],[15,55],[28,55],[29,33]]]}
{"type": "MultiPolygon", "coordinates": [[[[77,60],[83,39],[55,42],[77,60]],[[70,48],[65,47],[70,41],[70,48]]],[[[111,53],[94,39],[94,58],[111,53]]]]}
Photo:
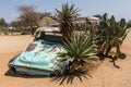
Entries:
{"type": "Polygon", "coordinates": [[[131,33],[121,47],[128,55],[127,59],[117,60],[120,69],[116,69],[109,60],[106,60],[86,75],[74,74],[58,78],[8,75],[9,60],[32,40],[33,37],[28,35],[0,36],[0,87],[131,87],[131,33]]]}

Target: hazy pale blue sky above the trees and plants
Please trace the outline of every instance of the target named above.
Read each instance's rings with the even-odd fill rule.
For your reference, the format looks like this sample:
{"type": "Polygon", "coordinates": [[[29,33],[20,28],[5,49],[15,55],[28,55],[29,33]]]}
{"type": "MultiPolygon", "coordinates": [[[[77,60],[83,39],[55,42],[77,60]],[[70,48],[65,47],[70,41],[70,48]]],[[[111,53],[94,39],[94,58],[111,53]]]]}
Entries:
{"type": "Polygon", "coordinates": [[[131,0],[0,0],[0,17],[8,23],[15,21],[20,15],[19,5],[36,5],[38,12],[55,14],[55,8],[60,10],[62,3],[74,4],[81,10],[80,16],[108,13],[117,20],[131,20],[131,0]]]}

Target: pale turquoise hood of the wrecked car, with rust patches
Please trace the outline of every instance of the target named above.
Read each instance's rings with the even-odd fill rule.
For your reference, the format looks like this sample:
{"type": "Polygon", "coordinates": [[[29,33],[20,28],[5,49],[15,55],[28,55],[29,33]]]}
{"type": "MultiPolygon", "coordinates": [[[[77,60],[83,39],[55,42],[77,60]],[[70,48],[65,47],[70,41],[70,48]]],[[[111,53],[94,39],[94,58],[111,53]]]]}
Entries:
{"type": "MultiPolygon", "coordinates": [[[[58,53],[63,51],[61,45],[35,41],[29,44],[12,63],[19,66],[51,71],[58,63],[58,53]]],[[[59,65],[63,64],[59,63],[59,65]]]]}

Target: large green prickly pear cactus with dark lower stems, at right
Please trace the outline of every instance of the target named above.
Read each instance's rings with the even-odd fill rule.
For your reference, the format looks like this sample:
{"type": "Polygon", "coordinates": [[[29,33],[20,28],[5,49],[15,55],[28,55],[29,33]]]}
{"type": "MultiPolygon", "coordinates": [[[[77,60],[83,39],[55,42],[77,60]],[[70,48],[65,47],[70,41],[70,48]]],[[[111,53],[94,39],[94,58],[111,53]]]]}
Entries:
{"type": "Polygon", "coordinates": [[[127,28],[126,20],[121,18],[120,22],[115,20],[115,16],[108,18],[107,14],[104,14],[103,21],[100,22],[97,35],[97,47],[99,55],[104,59],[111,57],[111,49],[116,48],[116,55],[111,57],[115,61],[117,58],[124,59],[126,54],[120,51],[120,45],[123,42],[130,30],[127,28]]]}

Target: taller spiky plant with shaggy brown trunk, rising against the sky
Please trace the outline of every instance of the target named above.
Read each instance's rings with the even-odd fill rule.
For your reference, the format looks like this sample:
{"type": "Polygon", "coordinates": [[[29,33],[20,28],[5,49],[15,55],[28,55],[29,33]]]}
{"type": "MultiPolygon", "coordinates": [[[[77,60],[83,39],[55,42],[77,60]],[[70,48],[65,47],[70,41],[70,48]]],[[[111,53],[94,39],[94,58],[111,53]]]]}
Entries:
{"type": "Polygon", "coordinates": [[[62,10],[57,10],[57,18],[60,22],[60,29],[63,37],[68,37],[73,32],[72,21],[79,15],[79,9],[74,9],[74,4],[69,7],[69,4],[62,4],[62,10]]]}

